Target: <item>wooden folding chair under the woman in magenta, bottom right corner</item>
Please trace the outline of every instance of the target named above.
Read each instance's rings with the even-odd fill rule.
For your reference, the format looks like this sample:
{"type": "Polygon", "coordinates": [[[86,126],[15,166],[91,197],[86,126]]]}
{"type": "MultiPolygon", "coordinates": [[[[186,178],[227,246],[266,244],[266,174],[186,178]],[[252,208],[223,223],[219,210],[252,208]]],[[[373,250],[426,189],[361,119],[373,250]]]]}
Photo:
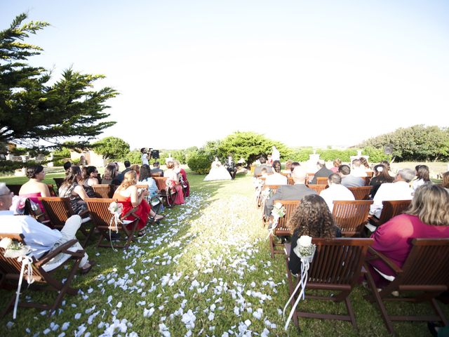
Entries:
{"type": "MultiPolygon", "coordinates": [[[[376,301],[379,305],[389,333],[394,333],[391,321],[436,321],[443,322],[445,326],[449,324],[449,320],[445,318],[435,300],[436,296],[449,289],[449,239],[413,239],[411,244],[412,249],[402,267],[398,267],[375,249],[370,248],[369,250],[374,258],[380,258],[387,263],[395,274],[392,282],[377,291],[373,277],[370,272],[367,272],[368,284],[373,293],[368,300],[376,301]],[[399,291],[400,296],[391,296],[392,291],[399,291]],[[409,292],[412,292],[410,297],[403,297],[403,293],[409,292]],[[384,306],[384,301],[387,300],[412,303],[429,301],[436,315],[391,316],[384,306]]],[[[366,269],[368,269],[368,265],[366,265],[366,269]]]]}

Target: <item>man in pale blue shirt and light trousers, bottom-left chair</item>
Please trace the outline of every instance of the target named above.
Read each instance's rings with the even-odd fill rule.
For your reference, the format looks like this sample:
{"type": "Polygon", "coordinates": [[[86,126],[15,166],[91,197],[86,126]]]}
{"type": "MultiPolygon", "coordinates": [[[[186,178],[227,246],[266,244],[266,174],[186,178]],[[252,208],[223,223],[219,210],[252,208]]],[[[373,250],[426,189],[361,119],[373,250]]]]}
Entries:
{"type": "MultiPolygon", "coordinates": [[[[62,230],[51,230],[50,227],[42,225],[31,216],[14,216],[12,211],[8,211],[11,207],[13,194],[5,183],[0,183],[0,232],[1,233],[17,233],[23,234],[24,241],[31,249],[31,256],[34,258],[41,258],[43,254],[52,251],[58,246],[65,244],[69,240],[76,239],[76,231],[81,226],[80,216],[71,216],[65,222],[62,230]]],[[[81,244],[76,242],[70,249],[78,251],[83,249],[81,244]]],[[[50,271],[58,267],[64,259],[65,254],[60,253],[55,256],[49,263],[43,265],[43,270],[50,271]],[[60,262],[60,263],[58,263],[60,262]]],[[[85,253],[79,263],[81,273],[85,274],[91,270],[91,263],[88,261],[88,256],[85,253]]]]}

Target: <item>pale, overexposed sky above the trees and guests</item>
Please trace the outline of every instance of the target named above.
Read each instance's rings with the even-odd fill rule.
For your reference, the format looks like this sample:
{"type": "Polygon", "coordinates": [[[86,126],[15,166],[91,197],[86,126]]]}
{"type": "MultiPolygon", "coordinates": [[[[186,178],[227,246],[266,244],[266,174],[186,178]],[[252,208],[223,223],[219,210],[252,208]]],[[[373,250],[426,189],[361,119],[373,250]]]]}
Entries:
{"type": "Polygon", "coordinates": [[[100,138],[182,149],[235,131],[351,146],[449,126],[449,1],[0,0],[51,23],[32,65],[105,74],[116,125],[100,138]]]}

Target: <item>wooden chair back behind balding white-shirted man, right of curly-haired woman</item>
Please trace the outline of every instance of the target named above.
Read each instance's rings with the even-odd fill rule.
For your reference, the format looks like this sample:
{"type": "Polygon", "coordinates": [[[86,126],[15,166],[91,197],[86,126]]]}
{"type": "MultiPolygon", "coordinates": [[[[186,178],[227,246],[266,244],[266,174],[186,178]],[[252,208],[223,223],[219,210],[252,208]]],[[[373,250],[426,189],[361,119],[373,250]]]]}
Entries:
{"type": "Polygon", "coordinates": [[[344,237],[361,237],[373,200],[333,201],[332,211],[335,225],[344,237]]]}

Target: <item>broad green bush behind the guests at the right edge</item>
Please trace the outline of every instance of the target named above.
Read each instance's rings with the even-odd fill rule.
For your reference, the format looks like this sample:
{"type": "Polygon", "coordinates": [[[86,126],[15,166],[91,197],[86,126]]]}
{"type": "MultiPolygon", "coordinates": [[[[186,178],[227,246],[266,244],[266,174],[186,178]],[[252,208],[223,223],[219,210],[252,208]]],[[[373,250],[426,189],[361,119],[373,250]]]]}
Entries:
{"type": "Polygon", "coordinates": [[[385,145],[393,146],[396,161],[445,160],[449,157],[449,132],[447,128],[421,124],[398,128],[361,144],[362,147],[369,146],[382,151],[385,145]]]}

